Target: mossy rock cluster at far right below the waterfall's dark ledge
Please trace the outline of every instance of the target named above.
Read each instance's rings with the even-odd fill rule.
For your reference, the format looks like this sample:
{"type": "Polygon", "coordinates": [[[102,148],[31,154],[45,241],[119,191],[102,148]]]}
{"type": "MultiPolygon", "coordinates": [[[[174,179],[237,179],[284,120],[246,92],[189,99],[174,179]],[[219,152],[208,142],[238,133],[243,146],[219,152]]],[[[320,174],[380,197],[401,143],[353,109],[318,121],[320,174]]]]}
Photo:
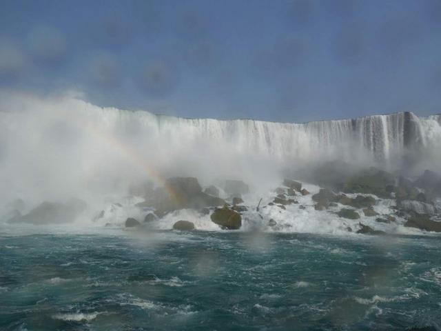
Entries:
{"type": "MultiPolygon", "coordinates": [[[[336,214],[345,219],[360,219],[360,216],[364,215],[376,217],[378,223],[393,223],[397,217],[401,217],[407,220],[404,223],[406,227],[441,232],[441,222],[435,221],[440,217],[440,210],[433,203],[433,199],[441,197],[441,177],[434,172],[427,170],[421,177],[411,181],[384,170],[370,168],[348,177],[340,176],[338,183],[332,184],[328,181],[327,185],[336,192],[342,193],[336,194],[329,188],[321,189],[312,197],[316,202],[314,206],[316,210],[327,210],[329,207],[338,207],[341,204],[344,208],[336,214]],[[358,195],[348,197],[347,194],[358,195]],[[373,205],[377,203],[374,196],[395,200],[393,207],[395,212],[379,217],[380,215],[373,209],[373,205]]],[[[358,233],[384,232],[360,223],[358,233]]]]}

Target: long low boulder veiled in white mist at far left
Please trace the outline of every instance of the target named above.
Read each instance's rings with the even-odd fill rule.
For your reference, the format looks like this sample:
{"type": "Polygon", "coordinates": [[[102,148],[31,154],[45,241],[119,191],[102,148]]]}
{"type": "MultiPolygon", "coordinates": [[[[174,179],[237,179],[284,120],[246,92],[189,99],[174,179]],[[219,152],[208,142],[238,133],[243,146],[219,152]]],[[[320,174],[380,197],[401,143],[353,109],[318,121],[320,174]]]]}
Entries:
{"type": "Polygon", "coordinates": [[[32,223],[35,225],[72,223],[87,207],[80,199],[71,199],[67,203],[45,201],[32,209],[28,214],[17,214],[8,222],[32,223]]]}

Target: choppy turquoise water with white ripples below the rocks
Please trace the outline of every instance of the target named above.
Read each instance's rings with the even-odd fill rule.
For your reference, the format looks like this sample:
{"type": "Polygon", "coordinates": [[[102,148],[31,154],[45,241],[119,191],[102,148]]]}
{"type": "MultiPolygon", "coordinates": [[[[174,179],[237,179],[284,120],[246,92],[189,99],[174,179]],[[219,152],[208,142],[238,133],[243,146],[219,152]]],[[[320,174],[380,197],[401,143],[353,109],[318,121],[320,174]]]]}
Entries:
{"type": "Polygon", "coordinates": [[[0,234],[0,330],[441,324],[440,237],[0,234]]]}

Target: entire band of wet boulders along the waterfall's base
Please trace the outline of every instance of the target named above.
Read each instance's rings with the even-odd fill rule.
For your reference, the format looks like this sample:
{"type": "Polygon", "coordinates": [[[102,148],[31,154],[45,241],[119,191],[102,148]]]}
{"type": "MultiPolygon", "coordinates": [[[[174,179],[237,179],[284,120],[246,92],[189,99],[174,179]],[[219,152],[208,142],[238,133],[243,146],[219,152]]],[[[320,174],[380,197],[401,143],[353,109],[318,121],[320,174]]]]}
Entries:
{"type": "MultiPolygon", "coordinates": [[[[385,225],[441,232],[441,210],[435,203],[441,197],[441,177],[435,172],[426,170],[420,177],[411,180],[369,168],[334,176],[333,181],[324,180],[323,176],[316,178],[314,187],[310,188],[316,192],[309,192],[304,181],[284,179],[263,203],[260,200],[253,205],[245,199],[251,193],[244,181],[225,180],[203,188],[195,177],[172,177],[163,187],[154,188],[150,184],[132,187],[130,194],[134,203],[130,205],[130,210],[133,214],[123,220],[119,217],[116,222],[123,222],[125,228],[155,228],[167,215],[192,210],[200,217],[209,217],[222,230],[243,229],[245,218],[247,223],[250,219],[258,220],[259,230],[265,230],[264,226],[278,231],[290,225],[280,224],[283,223],[280,218],[276,220],[271,215],[277,214],[276,210],[279,213],[296,210],[309,212],[311,218],[318,215],[336,217],[342,220],[345,231],[359,234],[390,233],[384,230],[385,225]],[[380,210],[379,206],[386,203],[389,204],[387,210],[380,210]]],[[[8,223],[41,225],[60,223],[60,220],[70,223],[86,210],[86,203],[79,199],[68,203],[44,202],[25,214],[21,214],[20,203],[16,202],[15,207],[10,208],[8,223]]],[[[114,214],[121,208],[127,209],[127,206],[112,203],[107,210],[95,212],[92,221],[108,219],[108,214],[114,214]]],[[[295,223],[296,219],[290,221],[295,223]]],[[[189,231],[199,227],[193,219],[178,219],[170,228],[189,231]]]]}

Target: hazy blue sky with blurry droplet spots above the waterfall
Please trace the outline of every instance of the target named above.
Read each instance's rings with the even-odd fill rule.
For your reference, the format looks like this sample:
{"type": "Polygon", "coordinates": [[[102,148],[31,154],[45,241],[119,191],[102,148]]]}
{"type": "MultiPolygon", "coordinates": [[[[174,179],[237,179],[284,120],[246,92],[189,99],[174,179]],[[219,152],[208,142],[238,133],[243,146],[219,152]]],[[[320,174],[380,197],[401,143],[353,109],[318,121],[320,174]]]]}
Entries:
{"type": "Polygon", "coordinates": [[[1,0],[0,88],[182,117],[439,113],[441,0],[1,0]]]}

